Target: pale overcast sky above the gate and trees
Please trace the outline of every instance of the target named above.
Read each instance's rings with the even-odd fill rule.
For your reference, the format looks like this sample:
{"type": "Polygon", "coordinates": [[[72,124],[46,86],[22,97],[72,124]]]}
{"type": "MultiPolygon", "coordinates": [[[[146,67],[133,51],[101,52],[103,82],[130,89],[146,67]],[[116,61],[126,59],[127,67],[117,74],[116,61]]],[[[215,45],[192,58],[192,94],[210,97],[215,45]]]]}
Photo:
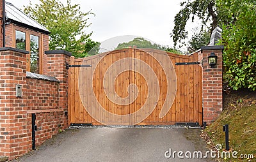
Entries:
{"type": "MultiPolygon", "coordinates": [[[[27,6],[29,0],[6,0],[17,8],[27,6]],[[19,3],[18,3],[19,2],[19,3]]],[[[61,0],[63,3],[66,0],[61,0]]],[[[105,41],[109,38],[124,35],[135,35],[147,38],[157,44],[173,46],[170,33],[174,17],[180,10],[182,0],[71,0],[73,4],[81,4],[81,10],[92,9],[95,16],[90,16],[92,25],[86,33],[93,31],[94,41],[105,41]]],[[[39,3],[32,0],[32,3],[39,3]]],[[[190,28],[196,24],[190,24],[190,28]]],[[[189,30],[191,30],[189,29],[189,30]]]]}

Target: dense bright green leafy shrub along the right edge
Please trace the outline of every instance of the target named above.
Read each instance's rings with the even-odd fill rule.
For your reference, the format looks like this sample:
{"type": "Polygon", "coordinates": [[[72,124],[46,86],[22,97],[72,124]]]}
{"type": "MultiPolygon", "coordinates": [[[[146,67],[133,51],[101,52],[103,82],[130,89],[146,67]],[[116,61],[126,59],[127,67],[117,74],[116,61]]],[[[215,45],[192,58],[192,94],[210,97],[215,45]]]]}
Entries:
{"type": "Polygon", "coordinates": [[[254,0],[218,0],[233,23],[223,25],[224,78],[237,90],[256,89],[256,3],[254,0]]]}

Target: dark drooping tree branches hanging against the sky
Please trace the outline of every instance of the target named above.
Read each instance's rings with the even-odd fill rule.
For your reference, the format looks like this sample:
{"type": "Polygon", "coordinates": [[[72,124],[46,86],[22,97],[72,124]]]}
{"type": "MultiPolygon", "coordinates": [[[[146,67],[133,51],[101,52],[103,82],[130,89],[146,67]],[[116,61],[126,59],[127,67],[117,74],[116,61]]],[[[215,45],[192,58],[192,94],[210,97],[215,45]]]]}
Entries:
{"type": "Polygon", "coordinates": [[[210,24],[210,31],[218,26],[218,11],[215,7],[215,0],[184,1],[180,5],[184,7],[175,15],[175,26],[171,34],[175,46],[177,42],[181,42],[188,35],[185,27],[189,18],[192,21],[195,19],[195,16],[200,18],[202,20],[202,29],[207,24],[210,24]]]}

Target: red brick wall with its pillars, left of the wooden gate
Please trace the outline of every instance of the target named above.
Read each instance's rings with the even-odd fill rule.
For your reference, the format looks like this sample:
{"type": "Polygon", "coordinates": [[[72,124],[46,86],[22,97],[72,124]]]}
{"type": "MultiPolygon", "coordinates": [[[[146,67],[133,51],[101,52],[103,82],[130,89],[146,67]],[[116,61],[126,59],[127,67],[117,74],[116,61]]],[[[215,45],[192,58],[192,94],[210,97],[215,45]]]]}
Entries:
{"type": "Polygon", "coordinates": [[[70,54],[56,52],[56,55],[46,55],[48,66],[45,68],[50,68],[49,75],[58,80],[26,73],[28,52],[0,48],[0,156],[13,159],[31,150],[31,114],[36,114],[36,145],[51,138],[59,129],[67,128],[65,64],[69,63],[70,54]],[[15,96],[16,84],[22,85],[21,98],[15,96]]]}

